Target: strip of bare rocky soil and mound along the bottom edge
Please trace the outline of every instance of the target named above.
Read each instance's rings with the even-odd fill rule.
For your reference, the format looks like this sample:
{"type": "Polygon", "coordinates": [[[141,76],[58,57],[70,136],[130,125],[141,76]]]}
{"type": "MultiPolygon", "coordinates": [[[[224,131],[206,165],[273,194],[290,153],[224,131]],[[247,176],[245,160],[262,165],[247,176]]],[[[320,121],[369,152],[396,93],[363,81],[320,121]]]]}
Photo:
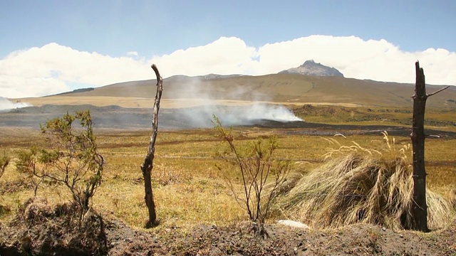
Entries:
{"type": "Polygon", "coordinates": [[[430,233],[357,224],[332,230],[250,223],[192,230],[138,230],[89,212],[78,224],[71,206],[31,200],[0,225],[0,255],[456,255],[456,222],[430,233]]]}

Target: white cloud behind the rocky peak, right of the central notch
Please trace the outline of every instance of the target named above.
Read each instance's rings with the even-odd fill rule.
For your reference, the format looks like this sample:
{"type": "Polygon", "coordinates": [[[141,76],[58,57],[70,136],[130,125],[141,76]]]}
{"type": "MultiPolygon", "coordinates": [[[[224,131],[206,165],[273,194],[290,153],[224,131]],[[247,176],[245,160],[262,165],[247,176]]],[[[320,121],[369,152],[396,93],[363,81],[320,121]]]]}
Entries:
{"type": "Polygon", "coordinates": [[[260,73],[285,70],[314,59],[337,68],[346,78],[415,82],[415,61],[425,69],[426,82],[456,85],[456,53],[427,49],[402,51],[388,41],[363,41],[355,36],[309,36],[259,48],[260,73]]]}

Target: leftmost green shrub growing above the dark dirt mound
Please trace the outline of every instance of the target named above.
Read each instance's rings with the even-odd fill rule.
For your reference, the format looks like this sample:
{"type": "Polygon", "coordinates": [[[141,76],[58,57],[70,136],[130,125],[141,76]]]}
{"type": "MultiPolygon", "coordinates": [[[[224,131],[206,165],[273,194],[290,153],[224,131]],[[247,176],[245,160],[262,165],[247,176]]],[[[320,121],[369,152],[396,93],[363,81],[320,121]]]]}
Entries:
{"type": "Polygon", "coordinates": [[[43,184],[68,188],[81,219],[100,186],[105,164],[98,153],[90,112],[48,120],[41,132],[46,146],[19,151],[17,169],[27,175],[35,195],[43,184]],[[75,120],[81,129],[73,127],[75,120]]]}

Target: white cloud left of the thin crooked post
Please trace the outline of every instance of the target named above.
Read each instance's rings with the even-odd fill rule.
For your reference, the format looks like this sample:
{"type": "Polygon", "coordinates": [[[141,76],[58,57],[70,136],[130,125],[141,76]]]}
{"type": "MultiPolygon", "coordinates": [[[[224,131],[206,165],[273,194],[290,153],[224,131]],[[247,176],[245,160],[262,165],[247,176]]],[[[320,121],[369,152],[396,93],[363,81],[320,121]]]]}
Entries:
{"type": "Polygon", "coordinates": [[[33,97],[73,90],[71,84],[98,87],[151,78],[145,60],[113,58],[57,43],[11,53],[0,60],[0,96],[33,97]]]}

